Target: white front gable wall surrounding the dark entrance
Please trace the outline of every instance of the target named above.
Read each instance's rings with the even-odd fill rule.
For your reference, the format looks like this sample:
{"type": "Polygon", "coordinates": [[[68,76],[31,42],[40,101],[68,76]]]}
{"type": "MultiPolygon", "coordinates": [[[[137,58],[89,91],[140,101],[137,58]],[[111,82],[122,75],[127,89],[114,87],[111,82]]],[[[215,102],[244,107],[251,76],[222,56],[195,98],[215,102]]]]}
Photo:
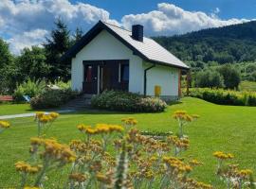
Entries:
{"type": "Polygon", "coordinates": [[[71,82],[72,89],[82,91],[83,65],[82,60],[129,60],[130,80],[129,91],[143,94],[142,60],[133,55],[133,51],[120,43],[107,31],[101,33],[72,59],[71,82]]]}

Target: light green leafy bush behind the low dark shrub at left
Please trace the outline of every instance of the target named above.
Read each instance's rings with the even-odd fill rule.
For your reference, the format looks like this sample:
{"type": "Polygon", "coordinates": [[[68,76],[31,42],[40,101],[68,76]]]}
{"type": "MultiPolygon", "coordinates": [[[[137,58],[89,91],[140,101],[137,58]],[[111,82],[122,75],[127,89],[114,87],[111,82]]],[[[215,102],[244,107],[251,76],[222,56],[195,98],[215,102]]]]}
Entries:
{"type": "Polygon", "coordinates": [[[46,90],[45,80],[31,80],[28,79],[20,85],[17,85],[14,91],[13,97],[15,101],[24,101],[23,95],[28,95],[29,97],[34,97],[36,95],[44,93],[46,90]]]}

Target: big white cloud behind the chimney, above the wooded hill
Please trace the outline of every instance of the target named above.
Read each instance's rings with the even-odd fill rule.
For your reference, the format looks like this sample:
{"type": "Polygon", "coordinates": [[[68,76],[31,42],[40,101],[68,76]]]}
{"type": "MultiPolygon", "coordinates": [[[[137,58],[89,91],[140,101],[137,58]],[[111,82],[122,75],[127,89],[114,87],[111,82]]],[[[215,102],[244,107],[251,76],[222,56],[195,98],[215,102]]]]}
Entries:
{"type": "MultiPolygon", "coordinates": [[[[215,9],[219,12],[220,9],[215,9]]],[[[202,11],[186,11],[173,4],[160,3],[157,10],[142,14],[123,16],[123,26],[130,28],[133,24],[145,26],[148,35],[174,35],[183,34],[202,28],[229,26],[244,23],[246,19],[221,20],[202,11]]]]}

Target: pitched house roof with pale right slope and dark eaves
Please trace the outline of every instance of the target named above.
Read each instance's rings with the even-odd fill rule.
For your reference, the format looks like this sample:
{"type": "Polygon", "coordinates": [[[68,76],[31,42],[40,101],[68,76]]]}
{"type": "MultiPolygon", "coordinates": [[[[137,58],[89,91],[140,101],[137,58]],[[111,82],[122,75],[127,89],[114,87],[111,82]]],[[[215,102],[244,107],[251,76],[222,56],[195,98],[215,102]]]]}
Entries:
{"type": "Polygon", "coordinates": [[[190,69],[183,61],[177,59],[172,53],[156,43],[150,38],[143,37],[143,42],[139,42],[132,38],[132,32],[119,26],[114,26],[102,21],[93,26],[82,39],[75,43],[63,56],[63,60],[72,59],[82,48],[90,43],[102,29],[107,30],[110,34],[116,37],[121,43],[130,48],[135,55],[143,60],[152,61],[156,64],[170,65],[182,69],[190,69]]]}

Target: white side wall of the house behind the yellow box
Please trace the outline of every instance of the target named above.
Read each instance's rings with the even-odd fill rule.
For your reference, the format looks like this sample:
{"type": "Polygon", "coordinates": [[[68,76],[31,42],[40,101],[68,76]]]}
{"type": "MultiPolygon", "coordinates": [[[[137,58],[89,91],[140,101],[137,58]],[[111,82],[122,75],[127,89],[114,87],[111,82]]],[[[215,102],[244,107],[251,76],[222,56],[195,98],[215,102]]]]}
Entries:
{"type": "MultiPolygon", "coordinates": [[[[143,69],[149,67],[149,62],[143,62],[143,69]]],[[[178,95],[178,69],[169,66],[156,65],[147,72],[147,95],[155,95],[155,85],[161,86],[161,95],[178,95]]]]}

